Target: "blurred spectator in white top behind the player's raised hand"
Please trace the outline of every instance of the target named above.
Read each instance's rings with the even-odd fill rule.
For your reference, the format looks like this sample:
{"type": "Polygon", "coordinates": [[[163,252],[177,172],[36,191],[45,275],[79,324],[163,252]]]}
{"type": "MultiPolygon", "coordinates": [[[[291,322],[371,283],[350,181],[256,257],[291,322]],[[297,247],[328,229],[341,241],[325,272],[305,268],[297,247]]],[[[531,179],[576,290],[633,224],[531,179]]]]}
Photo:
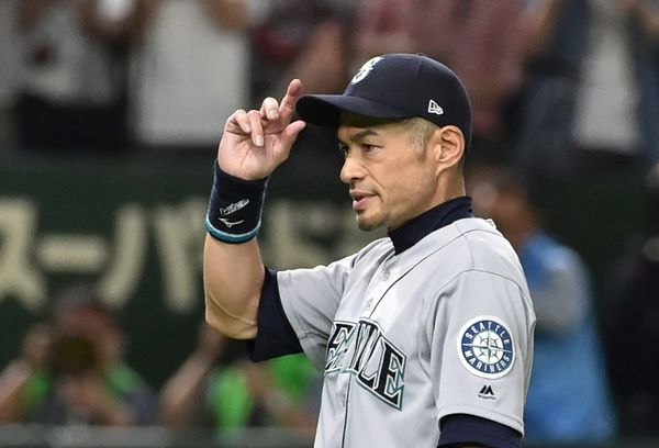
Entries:
{"type": "Polygon", "coordinates": [[[214,150],[217,130],[249,96],[249,29],[259,0],[137,0],[133,133],[156,149],[214,150]]]}

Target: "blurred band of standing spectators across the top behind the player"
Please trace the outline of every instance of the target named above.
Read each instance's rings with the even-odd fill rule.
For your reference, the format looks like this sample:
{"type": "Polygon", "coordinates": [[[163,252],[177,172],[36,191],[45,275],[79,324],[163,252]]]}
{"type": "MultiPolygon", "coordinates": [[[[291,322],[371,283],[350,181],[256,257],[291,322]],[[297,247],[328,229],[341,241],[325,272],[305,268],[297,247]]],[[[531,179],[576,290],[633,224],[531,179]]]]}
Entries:
{"type": "Polygon", "coordinates": [[[340,92],[365,59],[414,52],[465,81],[473,157],[541,173],[659,157],[654,0],[7,0],[0,8],[5,146],[212,152],[234,110],[279,97],[292,77],[308,92],[340,92]]]}

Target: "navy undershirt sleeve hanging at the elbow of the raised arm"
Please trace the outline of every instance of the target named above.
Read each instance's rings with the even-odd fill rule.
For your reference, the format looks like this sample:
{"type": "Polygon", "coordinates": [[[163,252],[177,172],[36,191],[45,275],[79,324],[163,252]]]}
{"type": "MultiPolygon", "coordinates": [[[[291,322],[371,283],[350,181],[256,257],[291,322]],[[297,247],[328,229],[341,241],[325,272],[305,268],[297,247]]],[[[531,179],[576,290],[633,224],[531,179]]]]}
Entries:
{"type": "Polygon", "coordinates": [[[302,351],[300,339],[281,306],[277,271],[266,268],[266,278],[258,303],[256,338],[247,340],[253,361],[265,361],[302,351]]]}

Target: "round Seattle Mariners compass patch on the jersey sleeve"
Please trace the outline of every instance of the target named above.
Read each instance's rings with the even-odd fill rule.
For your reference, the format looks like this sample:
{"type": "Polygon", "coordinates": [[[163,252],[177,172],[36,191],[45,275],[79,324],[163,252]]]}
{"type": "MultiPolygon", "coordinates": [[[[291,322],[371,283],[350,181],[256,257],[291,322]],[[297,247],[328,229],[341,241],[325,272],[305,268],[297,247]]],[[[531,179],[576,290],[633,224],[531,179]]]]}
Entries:
{"type": "Polygon", "coordinates": [[[471,373],[488,379],[501,378],[515,361],[513,336],[499,318],[476,317],[458,334],[458,356],[471,373]]]}

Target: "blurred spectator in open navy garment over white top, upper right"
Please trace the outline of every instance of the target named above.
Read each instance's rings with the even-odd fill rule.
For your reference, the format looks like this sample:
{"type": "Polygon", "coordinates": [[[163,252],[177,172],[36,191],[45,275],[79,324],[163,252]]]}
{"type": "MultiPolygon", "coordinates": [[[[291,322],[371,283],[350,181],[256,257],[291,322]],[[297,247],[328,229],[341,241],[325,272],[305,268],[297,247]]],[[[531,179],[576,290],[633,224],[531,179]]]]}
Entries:
{"type": "Polygon", "coordinates": [[[659,158],[659,2],[527,3],[520,167],[565,173],[659,158]]]}

